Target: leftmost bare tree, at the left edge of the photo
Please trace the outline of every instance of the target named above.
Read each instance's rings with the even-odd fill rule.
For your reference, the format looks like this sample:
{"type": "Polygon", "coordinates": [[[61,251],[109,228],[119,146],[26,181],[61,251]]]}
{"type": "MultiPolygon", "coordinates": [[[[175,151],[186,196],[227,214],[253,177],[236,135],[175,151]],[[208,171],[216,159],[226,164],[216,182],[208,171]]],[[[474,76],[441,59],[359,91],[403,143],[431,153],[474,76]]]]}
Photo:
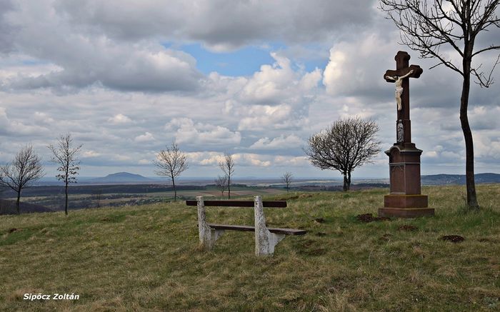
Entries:
{"type": "Polygon", "coordinates": [[[21,191],[32,182],[44,176],[41,158],[33,151],[33,146],[26,145],[14,156],[14,160],[0,167],[0,183],[17,193],[16,209],[19,213],[21,191]]]}

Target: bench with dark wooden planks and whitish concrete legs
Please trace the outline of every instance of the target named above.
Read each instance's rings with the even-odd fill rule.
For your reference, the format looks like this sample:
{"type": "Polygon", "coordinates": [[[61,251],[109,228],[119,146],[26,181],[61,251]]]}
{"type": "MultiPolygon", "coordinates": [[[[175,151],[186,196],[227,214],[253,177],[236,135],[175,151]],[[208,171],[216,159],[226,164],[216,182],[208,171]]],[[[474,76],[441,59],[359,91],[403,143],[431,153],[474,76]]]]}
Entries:
{"type": "Polygon", "coordinates": [[[262,201],[261,196],[255,196],[254,201],[204,201],[197,196],[196,201],[186,201],[187,206],[198,207],[198,231],[200,245],[210,250],[224,231],[255,232],[256,256],[272,255],[274,247],[286,235],[304,235],[306,231],[296,228],[267,228],[264,217],[264,207],[285,208],[286,201],[262,201]],[[234,226],[229,224],[206,223],[205,206],[219,207],[251,207],[254,206],[255,226],[234,226]]]}

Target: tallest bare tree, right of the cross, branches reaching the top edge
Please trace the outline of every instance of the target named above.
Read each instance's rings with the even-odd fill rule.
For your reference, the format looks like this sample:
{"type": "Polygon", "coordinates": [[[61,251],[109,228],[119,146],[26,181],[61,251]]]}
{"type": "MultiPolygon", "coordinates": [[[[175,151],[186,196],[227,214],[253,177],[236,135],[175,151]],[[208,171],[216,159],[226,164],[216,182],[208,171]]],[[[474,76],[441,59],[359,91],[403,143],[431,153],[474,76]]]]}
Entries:
{"type": "Polygon", "coordinates": [[[500,54],[487,76],[481,71],[482,64],[472,66],[472,59],[483,52],[500,49],[498,42],[474,49],[480,33],[489,31],[491,27],[500,27],[500,19],[495,14],[500,0],[380,0],[380,4],[380,9],[401,30],[401,44],[419,51],[421,58],[437,59],[437,64],[431,69],[444,65],[463,79],[460,123],[466,150],[467,206],[479,209],[474,181],[474,142],[467,108],[471,75],[476,77],[476,84],[481,87],[487,88],[494,82],[491,75],[499,64],[500,54]],[[454,63],[446,48],[459,55],[461,64],[454,63]]]}

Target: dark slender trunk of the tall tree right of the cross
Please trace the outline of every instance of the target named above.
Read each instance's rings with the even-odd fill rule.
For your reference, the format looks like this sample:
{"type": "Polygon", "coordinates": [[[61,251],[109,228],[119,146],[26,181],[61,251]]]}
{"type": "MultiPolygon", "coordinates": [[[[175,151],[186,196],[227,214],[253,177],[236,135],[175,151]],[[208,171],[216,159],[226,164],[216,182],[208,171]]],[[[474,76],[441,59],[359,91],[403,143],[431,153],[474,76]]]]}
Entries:
{"type": "Polygon", "coordinates": [[[467,207],[470,210],[479,209],[479,203],[476,196],[476,183],[474,181],[474,142],[472,141],[471,126],[469,126],[469,117],[467,108],[469,106],[469,90],[471,87],[471,61],[464,57],[464,84],[460,98],[460,124],[464,132],[465,139],[465,173],[467,189],[467,207]]]}

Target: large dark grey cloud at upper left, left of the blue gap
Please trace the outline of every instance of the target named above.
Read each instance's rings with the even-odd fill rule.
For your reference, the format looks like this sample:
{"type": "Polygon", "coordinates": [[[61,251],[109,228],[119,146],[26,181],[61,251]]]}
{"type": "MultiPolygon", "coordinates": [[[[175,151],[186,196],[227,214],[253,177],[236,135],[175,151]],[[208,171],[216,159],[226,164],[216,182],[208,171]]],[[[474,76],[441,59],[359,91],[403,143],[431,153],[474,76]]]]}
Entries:
{"type": "Polygon", "coordinates": [[[74,27],[61,6],[49,0],[21,1],[9,12],[17,51],[48,61],[57,70],[19,72],[4,79],[4,89],[51,88],[64,94],[94,85],[149,92],[192,91],[199,86],[203,76],[189,54],[154,41],[114,41],[106,34],[74,27]]]}

